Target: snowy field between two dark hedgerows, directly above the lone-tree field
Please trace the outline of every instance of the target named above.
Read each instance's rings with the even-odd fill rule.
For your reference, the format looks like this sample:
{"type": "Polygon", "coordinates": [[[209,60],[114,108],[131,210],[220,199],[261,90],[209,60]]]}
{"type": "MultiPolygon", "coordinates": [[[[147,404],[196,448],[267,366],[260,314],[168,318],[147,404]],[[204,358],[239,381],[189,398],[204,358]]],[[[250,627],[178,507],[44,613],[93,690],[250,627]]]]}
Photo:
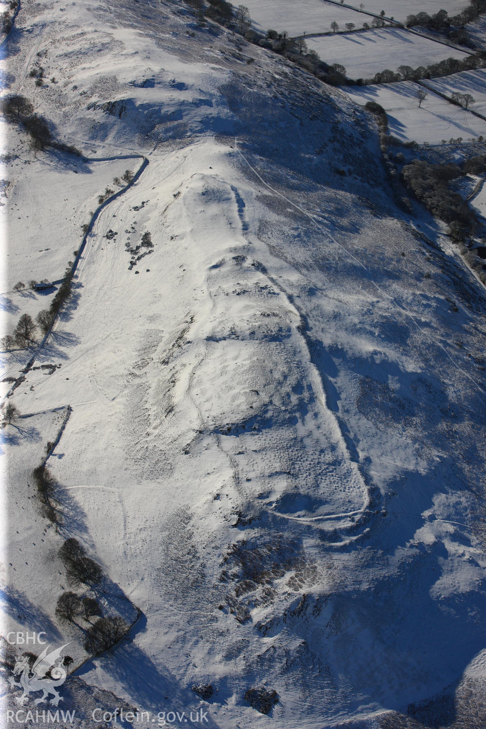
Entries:
{"type": "Polygon", "coordinates": [[[396,71],[402,63],[416,68],[444,58],[466,58],[465,53],[455,48],[400,28],[309,38],[307,46],[326,63],[342,63],[351,79],[369,79],[385,69],[396,71]]]}

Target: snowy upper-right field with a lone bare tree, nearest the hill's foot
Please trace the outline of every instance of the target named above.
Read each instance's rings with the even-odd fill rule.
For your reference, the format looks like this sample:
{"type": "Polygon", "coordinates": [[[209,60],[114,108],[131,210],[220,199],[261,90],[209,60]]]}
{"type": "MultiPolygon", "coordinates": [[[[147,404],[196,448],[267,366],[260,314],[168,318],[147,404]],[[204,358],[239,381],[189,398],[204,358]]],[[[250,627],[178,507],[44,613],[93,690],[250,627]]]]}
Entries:
{"type": "Polygon", "coordinates": [[[346,88],[346,93],[357,104],[377,101],[388,114],[391,133],[404,141],[419,144],[440,144],[442,139],[464,141],[471,137],[486,136],[486,121],[444,98],[429,92],[420,109],[415,95],[418,85],[411,81],[396,84],[377,84],[346,88]]]}

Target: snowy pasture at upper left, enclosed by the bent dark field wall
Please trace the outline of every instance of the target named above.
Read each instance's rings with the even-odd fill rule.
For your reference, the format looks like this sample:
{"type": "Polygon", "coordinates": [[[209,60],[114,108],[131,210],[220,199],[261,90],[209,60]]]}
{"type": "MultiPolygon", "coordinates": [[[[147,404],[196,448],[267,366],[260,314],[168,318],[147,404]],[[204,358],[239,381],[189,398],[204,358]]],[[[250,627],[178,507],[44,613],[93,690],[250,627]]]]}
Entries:
{"type": "MultiPolygon", "coordinates": [[[[12,128],[9,132],[17,137],[12,128]]],[[[93,157],[92,150],[90,145],[83,152],[93,157]]],[[[0,255],[7,262],[2,269],[4,295],[12,294],[17,281],[28,284],[31,279],[62,278],[81,244],[81,226],[90,222],[90,212],[98,207],[98,195],[107,186],[119,190],[113,184],[114,177],[121,177],[126,169],[137,169],[139,164],[137,158],[85,161],[49,150],[38,152],[35,160],[20,155],[4,163],[1,174],[10,182],[0,208],[4,231],[0,255]]]]}

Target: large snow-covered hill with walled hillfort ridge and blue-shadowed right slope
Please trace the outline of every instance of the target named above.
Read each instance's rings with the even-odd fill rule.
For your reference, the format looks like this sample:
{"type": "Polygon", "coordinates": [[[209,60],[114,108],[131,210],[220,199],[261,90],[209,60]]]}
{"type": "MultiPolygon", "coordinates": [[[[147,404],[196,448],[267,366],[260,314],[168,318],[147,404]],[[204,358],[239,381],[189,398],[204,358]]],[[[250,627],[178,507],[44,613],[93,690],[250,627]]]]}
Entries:
{"type": "MultiPolygon", "coordinates": [[[[179,0],[28,0],[8,43],[9,93],[86,157],[125,157],[34,157],[9,125],[12,281],[41,247],[67,263],[126,157],[148,164],[96,217],[45,346],[2,355],[31,416],[2,430],[4,627],[86,658],[55,615],[76,537],[104,609],[141,611],[66,683],[85,726],[95,699],[228,729],[395,729],[456,689],[481,707],[484,287],[396,207],[372,117],[179,0]],[[59,413],[55,534],[26,479],[59,413]],[[268,716],[244,698],[262,686],[268,716]]],[[[4,293],[12,325],[32,296],[4,293]]]]}

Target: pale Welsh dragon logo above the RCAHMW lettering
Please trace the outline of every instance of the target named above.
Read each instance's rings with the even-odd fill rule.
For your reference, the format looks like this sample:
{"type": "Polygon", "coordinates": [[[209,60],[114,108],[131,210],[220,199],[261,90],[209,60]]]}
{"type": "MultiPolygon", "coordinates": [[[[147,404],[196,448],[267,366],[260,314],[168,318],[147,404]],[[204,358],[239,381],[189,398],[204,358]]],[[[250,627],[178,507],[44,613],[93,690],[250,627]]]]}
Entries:
{"type": "Polygon", "coordinates": [[[54,698],[51,699],[50,703],[54,706],[58,706],[59,701],[63,701],[63,697],[56,691],[56,686],[62,686],[66,681],[67,671],[62,666],[63,657],[60,655],[65,645],[60,648],[52,650],[50,653],[47,651],[50,646],[44,648],[39,658],[36,659],[34,666],[30,666],[28,662],[28,656],[23,655],[17,658],[15,666],[12,670],[14,676],[20,674],[20,682],[15,681],[14,677],[9,678],[9,684],[12,686],[19,686],[23,689],[23,694],[17,696],[15,701],[22,705],[28,700],[28,694],[31,691],[43,691],[41,698],[36,698],[34,703],[46,703],[47,696],[52,693],[54,698]],[[45,678],[47,672],[50,670],[50,678],[45,678]],[[31,674],[31,675],[30,675],[31,674]]]}

